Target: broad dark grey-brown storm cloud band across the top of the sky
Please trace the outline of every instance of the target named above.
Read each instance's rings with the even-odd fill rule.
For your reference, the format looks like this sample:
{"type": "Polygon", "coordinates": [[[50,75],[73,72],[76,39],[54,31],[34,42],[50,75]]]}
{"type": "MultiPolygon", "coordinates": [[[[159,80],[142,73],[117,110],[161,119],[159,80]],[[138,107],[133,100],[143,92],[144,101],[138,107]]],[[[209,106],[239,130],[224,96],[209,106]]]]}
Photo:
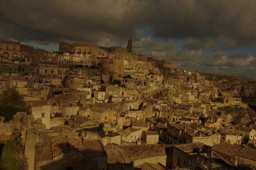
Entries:
{"type": "Polygon", "coordinates": [[[146,25],[155,37],[190,38],[199,46],[204,44],[200,40],[218,40],[225,48],[255,45],[256,40],[254,0],[1,1],[1,39],[103,44],[124,41],[146,25]]]}

